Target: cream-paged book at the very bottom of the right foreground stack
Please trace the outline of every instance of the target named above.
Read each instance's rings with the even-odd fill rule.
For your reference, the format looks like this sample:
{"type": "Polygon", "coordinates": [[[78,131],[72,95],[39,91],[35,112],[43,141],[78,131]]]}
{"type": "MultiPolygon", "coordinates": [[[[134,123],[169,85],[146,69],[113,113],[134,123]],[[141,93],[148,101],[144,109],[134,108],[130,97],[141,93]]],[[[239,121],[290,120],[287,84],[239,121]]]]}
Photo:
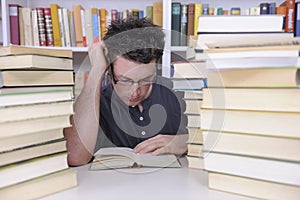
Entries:
{"type": "Polygon", "coordinates": [[[210,189],[258,199],[298,199],[300,187],[260,179],[208,172],[210,189]]]}

